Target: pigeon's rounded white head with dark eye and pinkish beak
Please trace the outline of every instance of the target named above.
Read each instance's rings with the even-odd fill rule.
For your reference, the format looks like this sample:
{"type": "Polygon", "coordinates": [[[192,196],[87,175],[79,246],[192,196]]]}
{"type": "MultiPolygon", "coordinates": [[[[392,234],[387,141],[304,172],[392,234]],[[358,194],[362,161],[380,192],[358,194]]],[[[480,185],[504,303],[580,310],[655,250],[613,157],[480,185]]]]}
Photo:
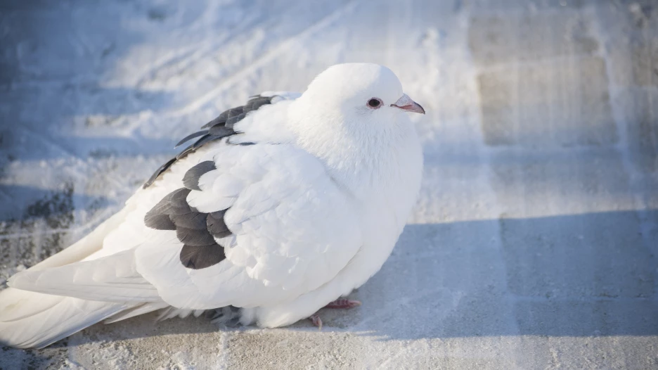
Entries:
{"type": "Polygon", "coordinates": [[[425,114],[404,94],[392,70],[371,63],[333,65],[309,84],[291,108],[302,138],[323,142],[351,138],[365,146],[410,129],[406,113],[425,114]]]}

